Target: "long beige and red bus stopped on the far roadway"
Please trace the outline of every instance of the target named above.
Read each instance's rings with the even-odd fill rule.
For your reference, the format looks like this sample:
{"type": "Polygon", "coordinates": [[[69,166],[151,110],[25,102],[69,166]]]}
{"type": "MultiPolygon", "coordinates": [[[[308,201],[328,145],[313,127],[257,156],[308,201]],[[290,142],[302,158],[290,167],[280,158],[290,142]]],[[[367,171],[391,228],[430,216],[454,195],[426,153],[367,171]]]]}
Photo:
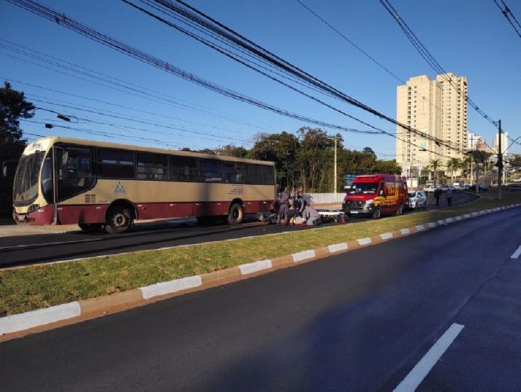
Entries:
{"type": "Polygon", "coordinates": [[[272,162],[58,136],[26,147],[13,188],[16,222],[110,234],[156,218],[240,223],[276,196],[272,162]]]}

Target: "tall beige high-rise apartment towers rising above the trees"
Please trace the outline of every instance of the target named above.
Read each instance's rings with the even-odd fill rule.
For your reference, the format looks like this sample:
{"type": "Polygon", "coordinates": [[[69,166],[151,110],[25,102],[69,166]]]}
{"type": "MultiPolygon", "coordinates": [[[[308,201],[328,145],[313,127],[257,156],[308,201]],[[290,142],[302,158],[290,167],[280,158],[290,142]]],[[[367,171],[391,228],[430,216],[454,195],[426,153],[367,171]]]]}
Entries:
{"type": "Polygon", "coordinates": [[[396,159],[402,174],[412,177],[433,160],[443,167],[450,158],[463,158],[467,148],[467,79],[448,73],[436,80],[415,76],[397,88],[397,120],[424,136],[397,126],[396,159]],[[452,81],[449,82],[449,80],[452,81]],[[460,151],[429,140],[433,136],[460,151]]]}

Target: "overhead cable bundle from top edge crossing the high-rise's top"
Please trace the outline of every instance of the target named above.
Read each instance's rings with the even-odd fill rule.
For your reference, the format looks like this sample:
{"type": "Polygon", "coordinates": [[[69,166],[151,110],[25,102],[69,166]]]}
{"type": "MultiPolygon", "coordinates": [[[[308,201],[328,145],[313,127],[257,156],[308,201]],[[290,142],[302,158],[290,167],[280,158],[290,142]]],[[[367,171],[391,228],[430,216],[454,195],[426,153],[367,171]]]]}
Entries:
{"type": "Polygon", "coordinates": [[[399,27],[402,28],[402,31],[405,33],[408,40],[411,41],[411,44],[413,44],[413,47],[417,50],[417,52],[420,54],[420,56],[422,56],[422,58],[424,58],[424,60],[427,62],[427,64],[429,64],[431,66],[431,68],[437,74],[442,76],[443,79],[445,79],[445,81],[449,82],[450,85],[452,85],[452,87],[454,88],[454,90],[456,90],[456,92],[458,92],[458,95],[463,97],[463,99],[465,99],[468,102],[468,104],[472,108],[474,108],[474,111],[477,111],[477,113],[479,113],[479,115],[481,115],[481,117],[483,117],[485,120],[487,120],[488,122],[490,122],[491,124],[493,124],[494,126],[497,127],[497,125],[498,125],[497,121],[495,121],[491,117],[489,117],[481,108],[479,108],[479,106],[477,106],[477,104],[474,101],[472,101],[472,99],[470,99],[468,94],[465,94],[465,92],[461,91],[461,88],[458,85],[456,85],[456,83],[454,83],[452,78],[447,76],[448,72],[445,71],[445,69],[440,65],[440,63],[438,63],[436,58],[434,58],[434,56],[432,56],[432,54],[429,52],[429,49],[427,49],[427,47],[425,47],[424,44],[422,44],[420,39],[417,38],[417,35],[415,35],[414,31],[404,21],[404,18],[401,15],[399,15],[397,10],[395,10],[395,8],[392,7],[390,2],[388,0],[379,0],[379,1],[382,4],[382,6],[384,8],[386,8],[388,13],[392,16],[392,18],[395,19],[395,22],[397,22],[399,27]]]}

